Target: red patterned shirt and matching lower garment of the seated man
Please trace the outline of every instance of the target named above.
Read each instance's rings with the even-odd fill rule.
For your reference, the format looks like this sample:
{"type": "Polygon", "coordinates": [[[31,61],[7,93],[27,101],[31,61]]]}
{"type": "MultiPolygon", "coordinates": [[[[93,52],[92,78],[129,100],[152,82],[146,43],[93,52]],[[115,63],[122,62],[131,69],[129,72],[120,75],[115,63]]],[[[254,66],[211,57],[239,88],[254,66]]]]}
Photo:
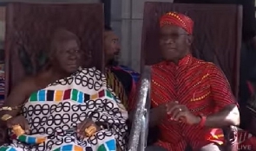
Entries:
{"type": "MultiPolygon", "coordinates": [[[[163,61],[152,66],[151,104],[178,101],[194,115],[211,115],[229,104],[236,104],[228,81],[213,63],[187,55],[178,65],[163,61]]],[[[168,117],[159,124],[157,145],[170,151],[183,151],[187,143],[198,149],[208,143],[224,142],[221,129],[200,128],[171,121],[168,117]]]]}

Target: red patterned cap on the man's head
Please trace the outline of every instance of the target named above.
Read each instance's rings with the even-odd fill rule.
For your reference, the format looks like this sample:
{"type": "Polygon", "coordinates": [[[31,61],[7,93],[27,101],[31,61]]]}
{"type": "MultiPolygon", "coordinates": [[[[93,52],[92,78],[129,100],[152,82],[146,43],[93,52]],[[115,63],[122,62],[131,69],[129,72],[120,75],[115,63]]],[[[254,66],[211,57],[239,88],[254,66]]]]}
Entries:
{"type": "Polygon", "coordinates": [[[160,27],[164,25],[175,25],[183,28],[189,35],[193,34],[194,22],[188,16],[176,12],[168,12],[161,16],[160,27]]]}

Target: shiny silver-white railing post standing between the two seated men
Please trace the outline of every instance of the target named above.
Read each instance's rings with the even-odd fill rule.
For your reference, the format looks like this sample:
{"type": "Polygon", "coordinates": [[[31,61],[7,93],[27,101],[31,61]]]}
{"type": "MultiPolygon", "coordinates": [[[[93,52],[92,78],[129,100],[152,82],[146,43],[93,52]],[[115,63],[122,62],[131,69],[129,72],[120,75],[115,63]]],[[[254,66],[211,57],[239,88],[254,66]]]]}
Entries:
{"type": "Polygon", "coordinates": [[[136,96],[137,105],[130,132],[128,151],[144,151],[148,140],[148,117],[150,111],[151,68],[144,66],[141,74],[140,88],[136,96]]]}

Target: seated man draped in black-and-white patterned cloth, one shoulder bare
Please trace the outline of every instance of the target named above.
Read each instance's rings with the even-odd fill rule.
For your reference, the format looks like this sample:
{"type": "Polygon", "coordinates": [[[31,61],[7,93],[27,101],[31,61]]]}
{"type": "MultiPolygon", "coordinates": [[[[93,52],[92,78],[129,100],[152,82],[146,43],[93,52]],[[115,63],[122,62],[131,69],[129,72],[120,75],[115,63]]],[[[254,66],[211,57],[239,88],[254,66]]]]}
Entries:
{"type": "Polygon", "coordinates": [[[0,150],[126,148],[127,111],[100,71],[79,68],[79,44],[76,35],[56,30],[49,66],[16,85],[0,109],[2,122],[15,132],[0,150]]]}

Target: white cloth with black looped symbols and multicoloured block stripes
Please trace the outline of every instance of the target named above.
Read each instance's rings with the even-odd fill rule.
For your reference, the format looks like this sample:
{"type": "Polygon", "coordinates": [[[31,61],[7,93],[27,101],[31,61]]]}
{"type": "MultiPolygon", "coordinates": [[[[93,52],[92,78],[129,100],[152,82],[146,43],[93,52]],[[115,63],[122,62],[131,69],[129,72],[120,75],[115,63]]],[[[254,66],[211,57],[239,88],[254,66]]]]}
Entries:
{"type": "Polygon", "coordinates": [[[23,116],[33,135],[12,135],[12,143],[1,151],[115,151],[117,144],[127,148],[128,113],[95,68],[80,69],[32,93],[23,105],[23,116]],[[109,129],[81,139],[74,128],[86,118],[106,123],[109,129]]]}

